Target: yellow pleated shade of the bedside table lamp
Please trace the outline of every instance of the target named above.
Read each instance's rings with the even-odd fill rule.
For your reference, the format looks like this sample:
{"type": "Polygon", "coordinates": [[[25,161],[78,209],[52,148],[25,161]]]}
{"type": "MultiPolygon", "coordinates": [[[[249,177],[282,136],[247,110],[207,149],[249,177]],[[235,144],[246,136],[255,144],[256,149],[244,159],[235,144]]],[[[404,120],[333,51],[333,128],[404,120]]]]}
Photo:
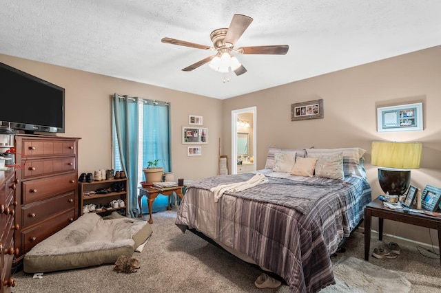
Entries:
{"type": "Polygon", "coordinates": [[[371,164],[387,168],[419,169],[421,142],[372,142],[371,164]]]}

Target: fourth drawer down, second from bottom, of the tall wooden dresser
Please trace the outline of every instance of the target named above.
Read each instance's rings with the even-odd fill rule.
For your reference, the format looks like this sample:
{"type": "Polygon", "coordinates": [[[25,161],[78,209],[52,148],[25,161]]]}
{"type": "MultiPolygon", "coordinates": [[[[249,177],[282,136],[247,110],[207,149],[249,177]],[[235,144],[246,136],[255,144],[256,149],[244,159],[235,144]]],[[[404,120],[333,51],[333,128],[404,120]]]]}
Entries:
{"type": "Polygon", "coordinates": [[[41,202],[28,204],[21,208],[21,228],[37,224],[39,221],[43,221],[53,215],[57,215],[63,210],[70,210],[75,208],[75,193],[74,191],[45,199],[41,202]]]}

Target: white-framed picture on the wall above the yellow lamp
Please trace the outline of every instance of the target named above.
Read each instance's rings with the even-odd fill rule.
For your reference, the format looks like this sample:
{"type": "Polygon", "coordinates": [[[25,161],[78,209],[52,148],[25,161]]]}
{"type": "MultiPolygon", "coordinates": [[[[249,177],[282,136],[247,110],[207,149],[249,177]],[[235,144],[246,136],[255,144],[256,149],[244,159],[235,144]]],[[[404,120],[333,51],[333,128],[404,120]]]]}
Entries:
{"type": "Polygon", "coordinates": [[[377,109],[377,131],[422,130],[422,102],[377,109]]]}

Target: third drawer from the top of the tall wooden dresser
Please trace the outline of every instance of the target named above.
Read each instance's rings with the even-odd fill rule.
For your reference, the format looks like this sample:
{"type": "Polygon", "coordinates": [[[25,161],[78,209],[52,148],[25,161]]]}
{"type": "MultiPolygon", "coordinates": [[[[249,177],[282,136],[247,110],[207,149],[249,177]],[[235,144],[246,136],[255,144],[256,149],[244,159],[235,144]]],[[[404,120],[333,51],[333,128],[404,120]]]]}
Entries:
{"type": "Polygon", "coordinates": [[[76,173],[22,182],[21,205],[38,202],[68,191],[76,191],[76,173]]]}

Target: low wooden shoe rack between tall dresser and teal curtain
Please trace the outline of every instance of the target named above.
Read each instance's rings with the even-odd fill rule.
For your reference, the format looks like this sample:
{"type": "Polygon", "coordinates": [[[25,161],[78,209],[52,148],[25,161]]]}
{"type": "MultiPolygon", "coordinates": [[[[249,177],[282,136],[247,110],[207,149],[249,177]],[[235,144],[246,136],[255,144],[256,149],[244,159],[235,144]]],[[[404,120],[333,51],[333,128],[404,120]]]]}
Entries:
{"type": "MultiPolygon", "coordinates": [[[[88,213],[98,213],[101,216],[110,215],[113,211],[121,213],[122,215],[128,215],[127,209],[127,178],[112,179],[112,180],[100,180],[92,182],[79,182],[79,214],[83,215],[83,207],[90,206],[92,204],[95,207],[101,205],[101,210],[90,210],[88,213]],[[112,190],[112,186],[115,184],[124,186],[121,191],[112,190]],[[110,191],[110,193],[96,193],[100,189],[110,191]],[[108,207],[113,201],[121,199],[124,202],[124,206],[108,207]]],[[[121,201],[120,201],[121,202],[121,201]]]]}

